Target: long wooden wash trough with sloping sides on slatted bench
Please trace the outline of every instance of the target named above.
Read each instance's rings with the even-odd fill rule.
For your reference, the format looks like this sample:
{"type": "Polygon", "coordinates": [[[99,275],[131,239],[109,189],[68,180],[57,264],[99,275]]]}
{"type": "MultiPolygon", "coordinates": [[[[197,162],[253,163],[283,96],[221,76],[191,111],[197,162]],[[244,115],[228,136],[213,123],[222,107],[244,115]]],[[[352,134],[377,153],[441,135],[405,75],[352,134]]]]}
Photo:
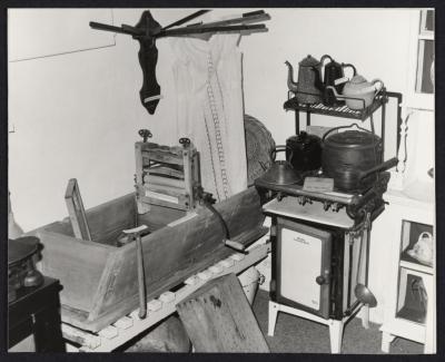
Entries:
{"type": "MultiPolygon", "coordinates": [[[[231,238],[249,243],[265,234],[260,197],[250,187],[215,205],[231,238]]],[[[233,254],[224,231],[208,209],[191,217],[152,206],[137,214],[135,194],[86,211],[91,242],[73,236],[69,218],[29,234],[43,244],[39,268],[60,280],[62,321],[98,332],[138,307],[136,243],[118,246],[122,229],[145,224],[142,236],[147,301],[180,285],[187,277],[233,254]]]]}

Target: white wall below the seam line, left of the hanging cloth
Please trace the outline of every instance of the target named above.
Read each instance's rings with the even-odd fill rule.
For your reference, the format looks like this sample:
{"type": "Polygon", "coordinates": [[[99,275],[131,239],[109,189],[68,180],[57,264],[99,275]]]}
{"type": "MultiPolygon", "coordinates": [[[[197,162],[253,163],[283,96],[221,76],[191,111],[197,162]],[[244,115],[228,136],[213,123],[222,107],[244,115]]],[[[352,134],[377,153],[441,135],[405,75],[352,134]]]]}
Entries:
{"type": "MultiPolygon", "coordinates": [[[[115,9],[115,23],[135,25],[141,11],[115,9]]],[[[184,13],[152,11],[164,25],[184,13]]],[[[86,208],[131,192],[138,129],[151,129],[154,140],[175,141],[172,76],[164,66],[171,50],[165,39],[157,47],[165,98],[154,116],[139,101],[139,45],[129,36],[118,35],[113,47],[9,63],[9,121],[16,129],[9,134],[9,188],[24,231],[67,215],[63,196],[71,177],[86,208]]]]}

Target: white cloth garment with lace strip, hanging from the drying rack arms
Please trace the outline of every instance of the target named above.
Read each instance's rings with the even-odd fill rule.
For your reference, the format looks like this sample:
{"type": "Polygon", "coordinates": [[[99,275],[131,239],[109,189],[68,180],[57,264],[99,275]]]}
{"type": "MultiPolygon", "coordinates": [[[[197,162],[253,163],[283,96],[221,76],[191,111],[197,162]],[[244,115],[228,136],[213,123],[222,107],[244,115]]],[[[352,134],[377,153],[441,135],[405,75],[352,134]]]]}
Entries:
{"type": "Polygon", "coordinates": [[[247,187],[239,35],[174,38],[177,137],[200,155],[201,184],[219,202],[247,187]]]}

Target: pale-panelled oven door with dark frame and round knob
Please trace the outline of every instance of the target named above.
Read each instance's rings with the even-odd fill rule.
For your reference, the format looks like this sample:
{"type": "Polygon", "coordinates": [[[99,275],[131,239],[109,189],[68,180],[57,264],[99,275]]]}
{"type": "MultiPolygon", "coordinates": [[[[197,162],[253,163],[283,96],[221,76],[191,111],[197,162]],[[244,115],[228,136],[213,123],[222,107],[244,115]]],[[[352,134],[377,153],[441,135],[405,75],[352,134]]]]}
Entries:
{"type": "Polygon", "coordinates": [[[333,235],[280,217],[276,231],[276,301],[328,319],[333,235]]]}

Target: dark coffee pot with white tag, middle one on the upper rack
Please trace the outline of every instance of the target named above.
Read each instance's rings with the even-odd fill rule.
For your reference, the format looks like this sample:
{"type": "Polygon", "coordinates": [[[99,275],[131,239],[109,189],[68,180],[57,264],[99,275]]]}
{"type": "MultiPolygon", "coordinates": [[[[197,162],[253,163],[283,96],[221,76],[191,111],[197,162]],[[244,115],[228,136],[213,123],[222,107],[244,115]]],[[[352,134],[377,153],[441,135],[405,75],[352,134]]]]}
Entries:
{"type": "Polygon", "coordinates": [[[345,68],[350,68],[353,70],[352,77],[357,74],[357,70],[353,65],[344,62],[339,63],[328,55],[324,55],[320,59],[320,66],[314,68],[314,71],[316,72],[316,86],[323,94],[322,101],[325,106],[338,107],[345,104],[343,99],[338,99],[332,89],[328,88],[334,87],[337,94],[343,92],[343,88],[348,80],[348,78],[345,77],[345,68]],[[330,61],[325,66],[325,60],[327,59],[330,61]],[[324,71],[322,75],[323,67],[324,71]]]}

